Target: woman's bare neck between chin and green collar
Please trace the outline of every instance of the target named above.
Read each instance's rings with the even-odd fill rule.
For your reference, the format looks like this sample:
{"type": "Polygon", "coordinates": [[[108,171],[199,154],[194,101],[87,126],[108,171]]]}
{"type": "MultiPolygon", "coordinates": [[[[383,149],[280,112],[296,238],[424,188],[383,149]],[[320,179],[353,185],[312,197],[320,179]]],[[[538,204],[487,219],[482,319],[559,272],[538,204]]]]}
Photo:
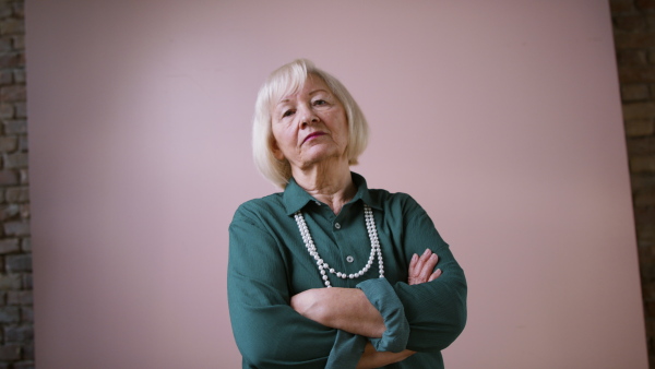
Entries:
{"type": "Polygon", "coordinates": [[[314,199],[327,204],[334,214],[338,214],[357,193],[348,163],[314,165],[303,169],[294,167],[291,171],[296,183],[314,199]]]}

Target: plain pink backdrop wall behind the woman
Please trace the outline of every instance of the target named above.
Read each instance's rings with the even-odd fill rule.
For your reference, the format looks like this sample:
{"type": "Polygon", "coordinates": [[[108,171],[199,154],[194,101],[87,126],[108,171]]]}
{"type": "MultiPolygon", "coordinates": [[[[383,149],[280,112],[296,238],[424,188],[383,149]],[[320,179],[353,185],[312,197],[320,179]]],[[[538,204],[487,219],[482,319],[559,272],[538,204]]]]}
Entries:
{"type": "Polygon", "coordinates": [[[236,368],[227,225],[258,87],[313,59],[464,266],[448,368],[645,368],[607,3],[28,1],[39,368],[236,368]]]}

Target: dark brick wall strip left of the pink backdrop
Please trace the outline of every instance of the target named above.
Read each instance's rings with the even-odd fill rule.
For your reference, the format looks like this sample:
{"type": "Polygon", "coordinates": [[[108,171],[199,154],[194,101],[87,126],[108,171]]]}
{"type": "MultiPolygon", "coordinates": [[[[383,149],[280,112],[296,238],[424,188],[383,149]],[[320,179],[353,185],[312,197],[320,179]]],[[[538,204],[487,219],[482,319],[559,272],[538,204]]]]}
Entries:
{"type": "Polygon", "coordinates": [[[0,0],[0,369],[34,368],[23,0],[0,0]]]}

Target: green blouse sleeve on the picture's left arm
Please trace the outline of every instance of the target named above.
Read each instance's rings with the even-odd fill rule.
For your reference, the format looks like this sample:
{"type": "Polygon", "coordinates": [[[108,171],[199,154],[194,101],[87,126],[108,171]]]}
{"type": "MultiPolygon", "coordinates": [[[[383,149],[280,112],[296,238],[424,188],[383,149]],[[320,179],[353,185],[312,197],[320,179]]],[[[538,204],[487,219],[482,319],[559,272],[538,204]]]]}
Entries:
{"type": "MultiPolygon", "coordinates": [[[[290,308],[285,258],[293,255],[248,207],[242,205],[229,226],[228,262],[228,305],[243,367],[324,368],[340,342],[338,331],[290,308]]],[[[337,348],[342,356],[349,353],[350,357],[340,359],[354,367],[364,343],[359,352],[337,348]]]]}

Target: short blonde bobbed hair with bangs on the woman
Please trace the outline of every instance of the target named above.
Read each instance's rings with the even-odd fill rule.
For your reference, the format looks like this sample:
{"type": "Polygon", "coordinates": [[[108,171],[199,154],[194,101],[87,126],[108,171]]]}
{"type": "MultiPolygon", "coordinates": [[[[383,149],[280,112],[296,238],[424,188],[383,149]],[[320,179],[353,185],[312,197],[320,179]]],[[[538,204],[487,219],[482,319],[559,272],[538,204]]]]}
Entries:
{"type": "Polygon", "coordinates": [[[348,120],[348,146],[346,156],[349,165],[356,165],[368,143],[369,128],[359,106],[346,87],[334,76],[318,69],[307,59],[297,59],[275,70],[260,88],[254,105],[252,122],[252,155],[259,171],[279,188],[285,188],[291,178],[291,167],[286,159],[273,155],[273,108],[283,96],[302,88],[309,74],[320,76],[343,104],[348,120]]]}

